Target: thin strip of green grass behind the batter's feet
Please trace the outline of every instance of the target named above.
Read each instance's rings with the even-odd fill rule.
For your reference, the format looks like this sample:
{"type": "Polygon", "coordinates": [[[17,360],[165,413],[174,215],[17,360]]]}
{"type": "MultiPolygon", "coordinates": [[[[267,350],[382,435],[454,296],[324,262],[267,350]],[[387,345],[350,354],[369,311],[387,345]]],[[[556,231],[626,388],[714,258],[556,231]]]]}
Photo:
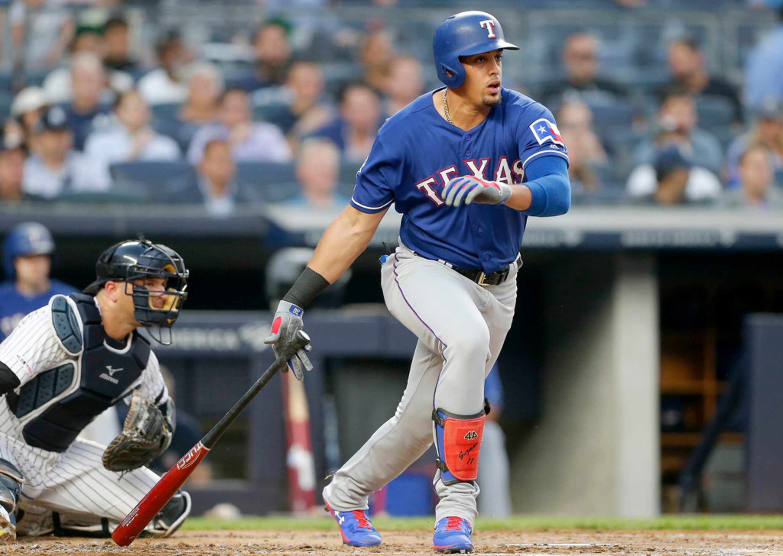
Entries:
{"type": "MultiPolygon", "coordinates": [[[[373,518],[377,529],[431,529],[432,518],[373,518]]],[[[247,517],[236,520],[190,518],[182,529],[334,529],[334,521],[323,518],[247,517]]],[[[518,515],[513,518],[478,518],[477,529],[783,529],[783,515],[666,515],[651,519],[577,518],[518,515]]]]}

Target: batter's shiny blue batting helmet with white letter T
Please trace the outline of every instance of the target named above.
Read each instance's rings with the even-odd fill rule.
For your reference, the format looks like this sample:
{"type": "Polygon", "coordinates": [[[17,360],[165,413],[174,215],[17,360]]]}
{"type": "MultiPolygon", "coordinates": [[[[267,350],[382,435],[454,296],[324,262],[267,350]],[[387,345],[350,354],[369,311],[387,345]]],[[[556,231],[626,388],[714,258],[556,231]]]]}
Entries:
{"type": "Polygon", "coordinates": [[[459,87],[465,81],[465,68],[460,63],[460,56],[472,56],[498,48],[519,50],[517,45],[506,41],[503,27],[492,14],[470,11],[449,17],[438,25],[432,39],[438,79],[446,87],[459,87]]]}

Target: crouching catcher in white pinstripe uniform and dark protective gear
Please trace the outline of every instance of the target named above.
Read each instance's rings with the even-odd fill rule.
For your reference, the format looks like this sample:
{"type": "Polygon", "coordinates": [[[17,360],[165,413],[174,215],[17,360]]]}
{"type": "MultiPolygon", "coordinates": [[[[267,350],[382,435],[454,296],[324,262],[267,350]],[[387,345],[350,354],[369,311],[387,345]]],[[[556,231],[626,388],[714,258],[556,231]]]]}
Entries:
{"type": "MultiPolygon", "coordinates": [[[[53,296],[0,344],[0,543],[16,535],[110,536],[157,482],[144,467],[168,447],[174,404],[150,342],[171,343],[186,299],[182,257],[148,240],[106,249],[84,294],[53,296]],[[109,447],[78,437],[130,404],[109,447]]],[[[146,534],[169,536],[190,511],[178,493],[146,534]]]]}

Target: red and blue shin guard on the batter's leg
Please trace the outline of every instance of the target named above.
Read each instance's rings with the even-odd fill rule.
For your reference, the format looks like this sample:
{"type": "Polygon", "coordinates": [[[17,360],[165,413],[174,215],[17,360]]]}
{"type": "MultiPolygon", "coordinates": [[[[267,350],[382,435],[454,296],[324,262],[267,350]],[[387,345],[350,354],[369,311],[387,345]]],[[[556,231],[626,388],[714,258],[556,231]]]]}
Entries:
{"type": "Polygon", "coordinates": [[[474,415],[456,415],[440,407],[432,411],[443,484],[476,480],[486,414],[485,410],[474,415]]]}

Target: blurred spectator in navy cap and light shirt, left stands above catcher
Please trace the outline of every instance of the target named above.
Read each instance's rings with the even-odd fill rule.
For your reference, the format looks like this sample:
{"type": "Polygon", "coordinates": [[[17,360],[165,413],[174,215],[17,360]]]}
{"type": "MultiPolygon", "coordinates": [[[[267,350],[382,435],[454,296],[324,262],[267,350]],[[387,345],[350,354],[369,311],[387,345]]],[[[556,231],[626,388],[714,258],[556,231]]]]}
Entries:
{"type": "Polygon", "coordinates": [[[96,167],[73,149],[74,134],[60,106],[49,109],[33,130],[33,155],[24,164],[22,190],[27,195],[54,199],[65,192],[106,190],[96,167]]]}

